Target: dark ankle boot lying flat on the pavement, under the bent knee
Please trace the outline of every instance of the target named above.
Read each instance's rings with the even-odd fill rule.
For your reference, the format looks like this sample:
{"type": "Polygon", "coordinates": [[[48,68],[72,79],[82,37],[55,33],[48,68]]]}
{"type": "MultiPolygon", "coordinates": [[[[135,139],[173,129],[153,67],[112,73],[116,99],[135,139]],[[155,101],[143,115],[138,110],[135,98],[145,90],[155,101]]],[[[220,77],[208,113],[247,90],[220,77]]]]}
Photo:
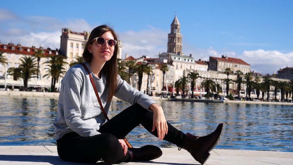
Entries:
{"type": "Polygon", "coordinates": [[[157,159],[162,155],[159,147],[153,145],[146,145],[140,148],[128,148],[130,154],[130,161],[149,161],[157,159]]]}

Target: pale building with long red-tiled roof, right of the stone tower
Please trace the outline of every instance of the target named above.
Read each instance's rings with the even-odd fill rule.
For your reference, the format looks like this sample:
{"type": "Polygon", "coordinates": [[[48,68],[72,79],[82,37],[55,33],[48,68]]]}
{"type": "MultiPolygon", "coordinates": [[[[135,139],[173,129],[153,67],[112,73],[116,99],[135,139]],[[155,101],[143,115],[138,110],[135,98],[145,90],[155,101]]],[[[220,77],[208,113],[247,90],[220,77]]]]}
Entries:
{"type": "Polygon", "coordinates": [[[225,72],[225,69],[227,68],[230,68],[232,73],[235,73],[237,70],[240,70],[243,74],[250,72],[250,64],[242,59],[227,57],[224,55],[222,55],[222,57],[209,57],[208,70],[225,72]]]}

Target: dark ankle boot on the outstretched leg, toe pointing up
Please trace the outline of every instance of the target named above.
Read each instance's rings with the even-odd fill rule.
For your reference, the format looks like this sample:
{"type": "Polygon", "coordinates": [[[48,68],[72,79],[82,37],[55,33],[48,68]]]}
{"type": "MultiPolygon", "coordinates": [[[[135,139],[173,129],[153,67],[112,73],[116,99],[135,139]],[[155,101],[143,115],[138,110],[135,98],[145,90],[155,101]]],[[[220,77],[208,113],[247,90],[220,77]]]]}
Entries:
{"type": "Polygon", "coordinates": [[[224,123],[221,123],[213,133],[207,136],[200,137],[187,133],[187,137],[185,138],[181,148],[186,149],[196,161],[200,162],[200,164],[204,164],[210,156],[209,152],[221,139],[223,131],[224,123]]]}

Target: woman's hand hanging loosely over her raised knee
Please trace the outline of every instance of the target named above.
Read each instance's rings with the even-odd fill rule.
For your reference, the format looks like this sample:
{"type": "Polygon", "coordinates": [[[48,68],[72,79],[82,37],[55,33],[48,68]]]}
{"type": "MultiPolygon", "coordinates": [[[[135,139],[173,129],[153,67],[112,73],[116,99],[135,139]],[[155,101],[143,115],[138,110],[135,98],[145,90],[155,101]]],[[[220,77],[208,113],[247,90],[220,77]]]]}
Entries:
{"type": "Polygon", "coordinates": [[[154,131],[157,128],[158,137],[160,140],[163,140],[165,135],[168,133],[168,125],[163,108],[158,104],[151,104],[149,108],[154,111],[153,129],[151,131],[154,131]]]}

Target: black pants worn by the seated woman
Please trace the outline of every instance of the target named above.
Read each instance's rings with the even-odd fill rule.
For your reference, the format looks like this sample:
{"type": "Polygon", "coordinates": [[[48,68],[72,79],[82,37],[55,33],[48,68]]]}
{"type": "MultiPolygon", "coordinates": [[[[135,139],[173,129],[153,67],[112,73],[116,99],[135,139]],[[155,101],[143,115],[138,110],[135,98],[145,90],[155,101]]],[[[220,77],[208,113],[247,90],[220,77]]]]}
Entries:
{"type": "MultiPolygon", "coordinates": [[[[158,137],[153,127],[153,112],[135,104],[120,112],[118,115],[103,124],[100,135],[82,137],[75,132],[65,134],[57,140],[58,155],[65,161],[95,163],[103,159],[107,163],[124,162],[130,159],[127,152],[123,154],[118,139],[125,137],[131,130],[142,124],[151,134],[158,137]]],[[[182,146],[186,135],[168,124],[168,133],[164,140],[182,146]]]]}

